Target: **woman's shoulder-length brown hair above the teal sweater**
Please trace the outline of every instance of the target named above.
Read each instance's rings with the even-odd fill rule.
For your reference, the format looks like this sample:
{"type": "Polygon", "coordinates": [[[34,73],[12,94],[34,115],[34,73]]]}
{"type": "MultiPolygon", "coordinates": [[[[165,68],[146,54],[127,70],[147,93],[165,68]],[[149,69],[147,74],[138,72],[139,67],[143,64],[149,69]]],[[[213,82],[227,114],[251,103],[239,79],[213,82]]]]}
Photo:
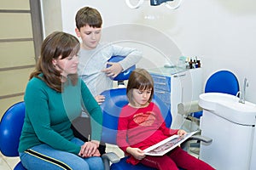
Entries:
{"type": "MultiPolygon", "coordinates": [[[[79,53],[79,40],[71,34],[55,31],[44,39],[41,47],[41,54],[38,59],[35,71],[30,75],[42,79],[50,88],[62,92],[61,71],[55,69],[53,59],[67,58],[69,55],[79,53]],[[39,74],[42,74],[42,76],[39,74]]],[[[73,85],[78,81],[78,74],[68,75],[73,85]]]]}

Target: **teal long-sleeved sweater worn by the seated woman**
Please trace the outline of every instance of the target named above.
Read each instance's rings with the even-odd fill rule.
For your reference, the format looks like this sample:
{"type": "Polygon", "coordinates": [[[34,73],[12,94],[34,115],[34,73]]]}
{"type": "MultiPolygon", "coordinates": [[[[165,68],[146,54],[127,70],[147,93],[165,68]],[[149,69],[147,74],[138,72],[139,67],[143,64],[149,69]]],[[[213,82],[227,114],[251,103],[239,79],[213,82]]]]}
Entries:
{"type": "Polygon", "coordinates": [[[63,93],[58,93],[37,77],[28,82],[19,152],[38,144],[49,144],[56,150],[79,154],[81,146],[70,142],[74,137],[70,127],[73,119],[80,116],[82,105],[91,116],[91,139],[101,139],[102,110],[90,90],[81,79],[75,86],[71,82],[63,86],[63,93]]]}

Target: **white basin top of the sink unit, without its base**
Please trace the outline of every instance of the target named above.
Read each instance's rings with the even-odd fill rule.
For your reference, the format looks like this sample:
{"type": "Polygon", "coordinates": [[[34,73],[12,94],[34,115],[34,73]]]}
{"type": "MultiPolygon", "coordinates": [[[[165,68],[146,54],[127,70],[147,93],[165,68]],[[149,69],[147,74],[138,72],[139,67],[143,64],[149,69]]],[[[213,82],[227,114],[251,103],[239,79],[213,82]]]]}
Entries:
{"type": "Polygon", "coordinates": [[[238,97],[230,94],[205,93],[199,96],[199,105],[204,110],[212,111],[230,122],[254,125],[256,105],[248,101],[241,104],[238,101],[238,97]]]}

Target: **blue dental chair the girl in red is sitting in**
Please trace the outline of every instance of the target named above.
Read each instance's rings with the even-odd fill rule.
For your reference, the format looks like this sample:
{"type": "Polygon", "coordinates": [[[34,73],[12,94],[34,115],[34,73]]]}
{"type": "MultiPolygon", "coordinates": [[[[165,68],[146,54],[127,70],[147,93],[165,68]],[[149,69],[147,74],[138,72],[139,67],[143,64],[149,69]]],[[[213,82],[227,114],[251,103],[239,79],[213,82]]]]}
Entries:
{"type": "MultiPolygon", "coordinates": [[[[115,80],[127,80],[131,74],[131,71],[134,68],[128,70],[128,74],[123,73],[119,74],[119,77],[116,77],[115,80]]],[[[119,113],[124,105],[128,104],[128,99],[126,97],[126,88],[115,88],[106,90],[102,93],[105,96],[105,101],[102,103],[102,114],[103,114],[103,123],[102,123],[102,142],[107,144],[116,143],[117,138],[117,129],[119,121],[119,113]]],[[[162,116],[166,121],[166,127],[171,127],[172,124],[172,114],[168,107],[163,103],[163,101],[154,95],[153,102],[160,107],[162,116]]],[[[191,139],[198,139],[206,143],[211,143],[212,139],[207,139],[201,136],[193,136],[191,139]]],[[[102,155],[102,160],[104,162],[105,170],[154,170],[155,168],[144,166],[139,163],[136,166],[131,165],[126,162],[128,156],[119,158],[115,153],[110,152],[102,155]],[[111,163],[110,163],[111,162],[111,163]]]]}

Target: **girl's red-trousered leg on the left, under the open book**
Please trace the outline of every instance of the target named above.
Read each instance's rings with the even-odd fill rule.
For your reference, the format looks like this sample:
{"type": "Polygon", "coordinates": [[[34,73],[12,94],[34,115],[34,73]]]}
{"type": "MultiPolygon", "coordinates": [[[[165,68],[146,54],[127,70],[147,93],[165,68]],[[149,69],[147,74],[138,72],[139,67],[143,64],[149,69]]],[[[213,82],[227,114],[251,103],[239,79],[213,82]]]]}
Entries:
{"type": "Polygon", "coordinates": [[[178,170],[176,164],[169,156],[146,156],[141,163],[159,170],[178,170]]]}

